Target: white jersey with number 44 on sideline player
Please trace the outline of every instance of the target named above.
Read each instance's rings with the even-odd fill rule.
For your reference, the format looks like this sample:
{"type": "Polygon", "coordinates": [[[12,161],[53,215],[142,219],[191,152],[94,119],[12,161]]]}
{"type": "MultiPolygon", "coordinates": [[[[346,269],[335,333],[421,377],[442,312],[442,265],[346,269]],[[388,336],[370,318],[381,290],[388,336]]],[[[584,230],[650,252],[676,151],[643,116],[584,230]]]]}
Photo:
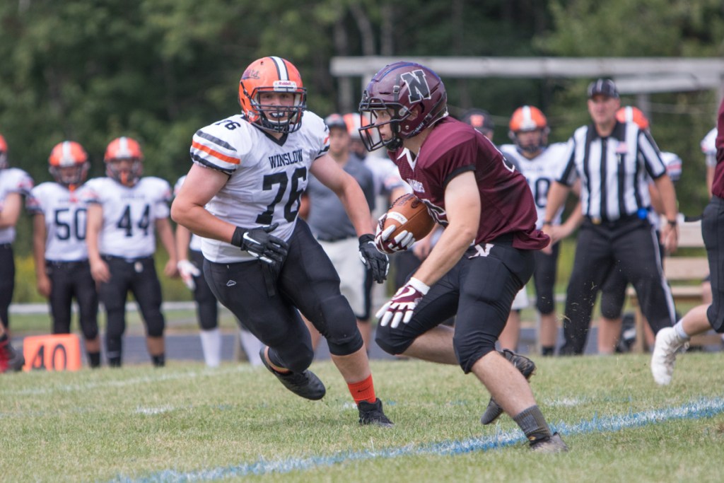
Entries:
{"type": "Polygon", "coordinates": [[[156,219],[169,217],[171,185],[161,178],[141,177],[125,186],[111,177],[88,180],[81,198],[103,208],[98,249],[123,259],[152,256],[156,251],[156,219]]]}

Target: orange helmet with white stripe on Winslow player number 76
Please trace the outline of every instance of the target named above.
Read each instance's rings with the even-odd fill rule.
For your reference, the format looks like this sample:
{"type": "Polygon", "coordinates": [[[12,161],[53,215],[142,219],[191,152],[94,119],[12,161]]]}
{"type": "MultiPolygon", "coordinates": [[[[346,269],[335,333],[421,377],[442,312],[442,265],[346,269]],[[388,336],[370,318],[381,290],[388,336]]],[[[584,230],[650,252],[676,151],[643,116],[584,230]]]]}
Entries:
{"type": "Polygon", "coordinates": [[[281,57],[257,59],[244,70],[239,81],[239,104],[249,122],[274,133],[293,133],[302,126],[307,108],[307,90],[294,65],[281,57]],[[291,106],[262,104],[262,93],[291,93],[291,106]]]}

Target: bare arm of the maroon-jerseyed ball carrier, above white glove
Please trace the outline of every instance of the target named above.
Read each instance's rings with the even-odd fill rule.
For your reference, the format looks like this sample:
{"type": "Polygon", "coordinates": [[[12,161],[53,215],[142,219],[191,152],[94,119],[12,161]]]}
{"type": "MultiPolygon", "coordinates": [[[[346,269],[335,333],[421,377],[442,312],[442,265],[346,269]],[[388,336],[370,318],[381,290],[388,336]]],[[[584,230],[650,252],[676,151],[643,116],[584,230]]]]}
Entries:
{"type": "Polygon", "coordinates": [[[430,286],[449,272],[475,240],[480,210],[475,173],[467,171],[452,178],[445,188],[448,225],[413,277],[430,286]]]}

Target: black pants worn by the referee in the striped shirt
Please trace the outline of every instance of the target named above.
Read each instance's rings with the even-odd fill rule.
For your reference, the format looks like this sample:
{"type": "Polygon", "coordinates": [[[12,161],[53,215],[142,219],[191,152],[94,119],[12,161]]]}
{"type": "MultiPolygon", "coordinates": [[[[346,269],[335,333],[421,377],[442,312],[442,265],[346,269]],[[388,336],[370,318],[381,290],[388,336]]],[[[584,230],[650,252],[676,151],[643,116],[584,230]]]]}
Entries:
{"type": "Polygon", "coordinates": [[[568,282],[563,318],[565,344],[560,354],[584,352],[596,296],[611,270],[620,270],[639,298],[654,334],[675,322],[673,298],[663,274],[659,243],[647,219],[631,217],[594,224],[586,219],[578,232],[576,258],[568,282]]]}

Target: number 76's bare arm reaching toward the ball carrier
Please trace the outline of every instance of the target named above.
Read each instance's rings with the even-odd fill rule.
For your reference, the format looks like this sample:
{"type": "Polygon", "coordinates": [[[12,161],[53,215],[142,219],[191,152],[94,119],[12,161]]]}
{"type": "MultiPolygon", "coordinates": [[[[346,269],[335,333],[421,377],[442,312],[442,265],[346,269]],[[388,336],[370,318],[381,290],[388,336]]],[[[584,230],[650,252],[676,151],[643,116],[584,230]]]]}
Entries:
{"type": "Polygon", "coordinates": [[[340,168],[329,154],[317,158],[312,163],[310,171],[340,198],[358,237],[373,232],[372,215],[367,199],[354,177],[340,168]]]}

